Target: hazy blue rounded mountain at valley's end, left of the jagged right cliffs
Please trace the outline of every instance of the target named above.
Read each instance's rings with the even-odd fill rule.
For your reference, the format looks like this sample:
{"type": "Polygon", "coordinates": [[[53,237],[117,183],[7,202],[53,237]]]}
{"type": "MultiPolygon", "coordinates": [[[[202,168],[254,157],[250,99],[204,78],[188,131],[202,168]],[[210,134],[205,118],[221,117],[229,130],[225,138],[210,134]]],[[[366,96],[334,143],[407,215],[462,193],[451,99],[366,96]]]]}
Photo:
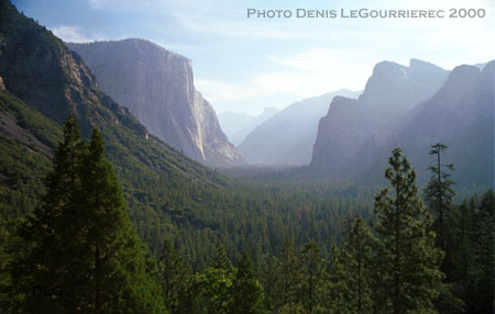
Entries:
{"type": "Polygon", "coordinates": [[[359,92],[338,90],[290,104],[260,124],[238,146],[252,164],[307,165],[311,159],[318,121],[337,96],[358,97],[359,92]]]}

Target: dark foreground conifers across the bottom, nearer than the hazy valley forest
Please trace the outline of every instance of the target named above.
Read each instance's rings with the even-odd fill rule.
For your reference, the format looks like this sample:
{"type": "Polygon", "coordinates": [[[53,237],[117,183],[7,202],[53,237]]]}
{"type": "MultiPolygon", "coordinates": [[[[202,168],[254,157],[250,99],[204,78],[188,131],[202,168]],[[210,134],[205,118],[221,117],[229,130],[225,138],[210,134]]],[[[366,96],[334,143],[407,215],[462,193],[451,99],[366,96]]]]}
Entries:
{"type": "MultiPolygon", "coordinates": [[[[446,149],[442,144],[432,146],[437,162],[421,192],[415,169],[394,148],[385,171],[389,187],[376,193],[374,214],[348,211],[354,217],[342,222],[339,240],[328,246],[312,238],[318,229],[314,225],[305,237],[299,237],[304,228],[286,234],[278,240],[279,250],[268,243],[270,250],[244,247],[242,255],[232,256],[217,242],[198,265],[190,255],[204,250],[185,251],[187,246],[177,237],[163,238],[160,254],[151,254],[131,224],[98,128],[89,143],[82,141],[72,116],[41,203],[15,228],[1,226],[0,309],[493,313],[494,192],[453,204],[453,166],[441,160],[446,149]]],[[[299,220],[307,212],[299,211],[299,220]]],[[[308,226],[315,224],[311,215],[307,220],[308,226]]],[[[246,235],[255,232],[241,227],[246,227],[246,235]]]]}

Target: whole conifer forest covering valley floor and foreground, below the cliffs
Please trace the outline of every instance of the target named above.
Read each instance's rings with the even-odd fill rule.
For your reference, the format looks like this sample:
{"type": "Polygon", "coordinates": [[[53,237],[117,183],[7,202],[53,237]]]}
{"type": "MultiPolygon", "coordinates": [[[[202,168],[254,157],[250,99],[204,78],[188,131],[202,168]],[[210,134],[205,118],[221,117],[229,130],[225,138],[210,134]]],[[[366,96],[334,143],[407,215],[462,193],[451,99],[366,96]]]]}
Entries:
{"type": "Polygon", "coordinates": [[[495,194],[454,202],[443,144],[424,189],[395,148],[382,189],[184,182],[136,215],[98,128],[84,141],[69,117],[63,134],[46,192],[2,220],[3,312],[494,311],[495,194]]]}

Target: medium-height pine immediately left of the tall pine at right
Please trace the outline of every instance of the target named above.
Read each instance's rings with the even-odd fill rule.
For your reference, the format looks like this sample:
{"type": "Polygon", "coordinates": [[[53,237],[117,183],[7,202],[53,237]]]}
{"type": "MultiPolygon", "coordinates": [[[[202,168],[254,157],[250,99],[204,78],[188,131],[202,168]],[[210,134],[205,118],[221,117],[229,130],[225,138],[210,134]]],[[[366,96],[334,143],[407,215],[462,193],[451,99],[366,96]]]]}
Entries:
{"type": "Polygon", "coordinates": [[[352,223],[348,240],[339,251],[337,287],[340,313],[371,313],[374,238],[360,216],[352,223]]]}

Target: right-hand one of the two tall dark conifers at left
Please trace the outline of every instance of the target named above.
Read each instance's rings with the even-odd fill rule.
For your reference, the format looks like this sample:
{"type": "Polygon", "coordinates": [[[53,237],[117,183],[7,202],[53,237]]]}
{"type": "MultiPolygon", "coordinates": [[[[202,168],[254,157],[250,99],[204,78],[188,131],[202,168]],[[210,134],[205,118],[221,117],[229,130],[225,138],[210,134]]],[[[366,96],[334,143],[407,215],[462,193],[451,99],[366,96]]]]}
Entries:
{"type": "Polygon", "coordinates": [[[148,274],[148,259],[125,212],[98,128],[92,132],[82,165],[80,206],[72,216],[80,223],[76,226],[80,236],[76,245],[85,257],[84,269],[89,270],[88,307],[97,313],[164,311],[161,291],[148,274]]]}

